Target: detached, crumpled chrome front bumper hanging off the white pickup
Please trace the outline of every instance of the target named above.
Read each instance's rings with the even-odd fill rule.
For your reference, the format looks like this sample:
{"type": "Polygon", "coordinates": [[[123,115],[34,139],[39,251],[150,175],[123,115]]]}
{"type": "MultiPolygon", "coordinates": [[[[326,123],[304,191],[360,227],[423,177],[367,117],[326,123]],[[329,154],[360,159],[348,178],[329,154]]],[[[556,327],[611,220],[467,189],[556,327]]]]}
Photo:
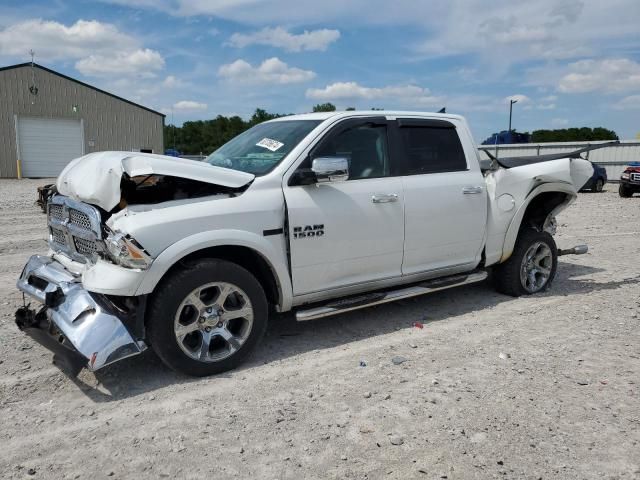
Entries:
{"type": "Polygon", "coordinates": [[[68,353],[75,364],[95,371],[146,348],[114,308],[82,288],[79,278],[51,257],[32,256],[17,286],[43,304],[38,312],[19,309],[18,327],[55,353],[68,353]]]}

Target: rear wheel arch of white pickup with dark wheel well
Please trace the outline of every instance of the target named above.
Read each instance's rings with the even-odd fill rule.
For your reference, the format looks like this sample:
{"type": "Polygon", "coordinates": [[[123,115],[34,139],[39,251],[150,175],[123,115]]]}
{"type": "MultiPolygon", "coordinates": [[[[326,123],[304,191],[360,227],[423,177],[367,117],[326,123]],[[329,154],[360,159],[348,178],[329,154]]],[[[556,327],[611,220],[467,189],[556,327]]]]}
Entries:
{"type": "Polygon", "coordinates": [[[575,189],[569,184],[550,183],[536,187],[527,196],[509,224],[500,263],[511,257],[523,226],[543,230],[547,218],[567,208],[576,197],[575,189]]]}

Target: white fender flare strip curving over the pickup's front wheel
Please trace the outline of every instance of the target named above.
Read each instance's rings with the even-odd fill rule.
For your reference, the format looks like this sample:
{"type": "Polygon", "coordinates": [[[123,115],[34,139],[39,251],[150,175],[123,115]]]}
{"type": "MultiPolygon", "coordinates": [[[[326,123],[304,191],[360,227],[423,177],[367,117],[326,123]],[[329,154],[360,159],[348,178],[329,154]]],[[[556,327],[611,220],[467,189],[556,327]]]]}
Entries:
{"type": "Polygon", "coordinates": [[[267,262],[275,276],[280,297],[280,310],[287,311],[291,308],[292,287],[284,249],[277,248],[264,236],[244,230],[201,232],[172,244],[153,261],[135,294],[151,293],[169,269],[187,255],[206,248],[221,246],[246,247],[257,252],[267,262]]]}

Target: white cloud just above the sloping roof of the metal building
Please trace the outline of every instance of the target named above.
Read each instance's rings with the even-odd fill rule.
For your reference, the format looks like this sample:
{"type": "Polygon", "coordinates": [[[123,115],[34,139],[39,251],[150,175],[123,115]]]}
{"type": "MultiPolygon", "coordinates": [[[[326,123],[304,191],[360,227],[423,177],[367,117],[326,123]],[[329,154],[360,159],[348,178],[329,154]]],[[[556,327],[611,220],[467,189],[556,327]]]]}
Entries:
{"type": "Polygon", "coordinates": [[[76,62],[76,69],[80,73],[92,77],[131,75],[149,78],[155,76],[155,72],[162,70],[163,67],[162,55],[148,48],[131,52],[89,55],[76,62]]]}

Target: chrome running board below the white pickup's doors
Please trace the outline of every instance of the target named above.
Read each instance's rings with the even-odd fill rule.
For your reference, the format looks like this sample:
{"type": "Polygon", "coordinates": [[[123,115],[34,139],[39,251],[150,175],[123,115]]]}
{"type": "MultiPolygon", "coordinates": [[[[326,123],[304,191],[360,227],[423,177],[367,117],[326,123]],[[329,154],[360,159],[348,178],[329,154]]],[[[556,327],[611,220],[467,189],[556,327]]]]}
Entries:
{"type": "Polygon", "coordinates": [[[476,270],[471,273],[462,275],[451,275],[449,277],[436,278],[426,282],[420,282],[410,287],[398,290],[390,290],[387,292],[367,293],[364,295],[356,295],[341,300],[335,300],[319,307],[313,307],[306,310],[298,310],[296,312],[296,320],[304,322],[307,320],[315,320],[316,318],[329,317],[339,313],[358,310],[359,308],[370,307],[372,305],[380,305],[382,303],[395,302],[404,298],[417,297],[438,290],[458,287],[468,283],[481,282],[487,278],[487,272],[484,270],[476,270]]]}

